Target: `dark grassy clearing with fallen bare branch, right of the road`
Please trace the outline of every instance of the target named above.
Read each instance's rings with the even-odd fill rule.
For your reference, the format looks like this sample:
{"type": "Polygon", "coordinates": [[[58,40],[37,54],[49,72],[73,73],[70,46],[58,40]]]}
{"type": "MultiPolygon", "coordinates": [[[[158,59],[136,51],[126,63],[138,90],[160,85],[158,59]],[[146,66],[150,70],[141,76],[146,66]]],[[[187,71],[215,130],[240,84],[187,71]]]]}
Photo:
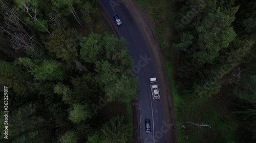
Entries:
{"type": "Polygon", "coordinates": [[[202,142],[221,142],[221,140],[232,142],[236,140],[238,124],[227,113],[226,104],[230,101],[226,100],[229,100],[229,98],[226,100],[223,100],[222,97],[191,100],[181,97],[178,93],[179,87],[175,84],[172,63],[165,60],[164,64],[168,74],[170,89],[174,96],[178,142],[198,142],[199,140],[202,142]],[[210,124],[211,128],[199,128],[185,122],[210,124]],[[185,128],[182,127],[183,125],[185,128]]]}

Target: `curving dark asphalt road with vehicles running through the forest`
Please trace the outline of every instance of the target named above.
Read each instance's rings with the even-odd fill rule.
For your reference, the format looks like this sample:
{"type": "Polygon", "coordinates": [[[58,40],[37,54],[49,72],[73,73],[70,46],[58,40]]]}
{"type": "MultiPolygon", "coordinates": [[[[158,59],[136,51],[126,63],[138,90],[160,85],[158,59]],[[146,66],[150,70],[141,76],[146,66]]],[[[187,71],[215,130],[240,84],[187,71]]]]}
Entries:
{"type": "MultiPolygon", "coordinates": [[[[122,26],[115,25],[115,32],[125,38],[129,45],[129,55],[132,56],[135,66],[133,71],[139,77],[139,106],[140,106],[140,137],[143,143],[165,143],[166,136],[164,131],[167,130],[164,126],[164,114],[161,105],[161,88],[159,87],[160,100],[153,100],[150,90],[150,77],[157,77],[155,74],[153,60],[146,46],[144,38],[131,16],[129,10],[123,5],[123,0],[99,0],[103,11],[113,17],[117,14],[122,21],[122,26]],[[145,119],[151,120],[151,134],[145,133],[145,119]]],[[[112,18],[114,21],[114,18],[112,18]]],[[[167,142],[171,143],[171,142],[167,142]]]]}

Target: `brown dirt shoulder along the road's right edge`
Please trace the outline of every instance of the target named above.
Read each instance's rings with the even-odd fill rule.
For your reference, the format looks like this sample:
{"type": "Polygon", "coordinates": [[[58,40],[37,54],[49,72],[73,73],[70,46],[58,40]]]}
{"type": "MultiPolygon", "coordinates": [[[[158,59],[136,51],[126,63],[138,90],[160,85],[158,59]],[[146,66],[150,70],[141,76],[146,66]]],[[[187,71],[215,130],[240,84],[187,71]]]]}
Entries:
{"type": "Polygon", "coordinates": [[[166,74],[162,52],[159,44],[156,41],[155,34],[153,31],[153,23],[150,18],[139,8],[134,0],[123,1],[124,5],[131,12],[133,18],[137,22],[141,33],[150,48],[154,62],[157,69],[158,84],[160,85],[161,101],[163,105],[165,122],[170,121],[174,126],[166,133],[166,139],[168,143],[177,142],[177,128],[174,120],[174,104],[173,96],[169,89],[168,76],[166,74]]]}

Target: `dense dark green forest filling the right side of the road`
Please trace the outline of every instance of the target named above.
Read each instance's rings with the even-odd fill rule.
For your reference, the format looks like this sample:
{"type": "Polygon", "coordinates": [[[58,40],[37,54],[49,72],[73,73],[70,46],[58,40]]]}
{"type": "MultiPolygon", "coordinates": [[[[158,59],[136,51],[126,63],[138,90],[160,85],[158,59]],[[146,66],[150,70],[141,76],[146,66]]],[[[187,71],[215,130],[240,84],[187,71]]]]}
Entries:
{"type": "Polygon", "coordinates": [[[185,125],[180,133],[189,142],[255,142],[256,2],[178,4],[173,44],[178,51],[173,52],[179,59],[175,75],[183,99],[177,106],[178,123],[185,125]],[[185,122],[212,128],[200,130],[185,122]]]}

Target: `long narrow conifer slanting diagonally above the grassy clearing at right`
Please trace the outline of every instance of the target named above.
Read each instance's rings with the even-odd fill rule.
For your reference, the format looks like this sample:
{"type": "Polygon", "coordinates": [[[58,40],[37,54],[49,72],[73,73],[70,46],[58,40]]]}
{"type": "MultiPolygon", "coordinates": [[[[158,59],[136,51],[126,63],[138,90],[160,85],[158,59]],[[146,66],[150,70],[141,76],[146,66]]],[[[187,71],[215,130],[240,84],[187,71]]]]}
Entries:
{"type": "Polygon", "coordinates": [[[198,95],[200,97],[216,95],[219,93],[221,88],[221,79],[230,70],[238,66],[241,59],[248,53],[252,48],[254,41],[241,41],[237,40],[231,44],[233,49],[227,53],[223,64],[215,65],[210,69],[211,74],[208,75],[208,78],[202,79],[200,83],[194,83],[194,92],[193,95],[198,95]]]}

